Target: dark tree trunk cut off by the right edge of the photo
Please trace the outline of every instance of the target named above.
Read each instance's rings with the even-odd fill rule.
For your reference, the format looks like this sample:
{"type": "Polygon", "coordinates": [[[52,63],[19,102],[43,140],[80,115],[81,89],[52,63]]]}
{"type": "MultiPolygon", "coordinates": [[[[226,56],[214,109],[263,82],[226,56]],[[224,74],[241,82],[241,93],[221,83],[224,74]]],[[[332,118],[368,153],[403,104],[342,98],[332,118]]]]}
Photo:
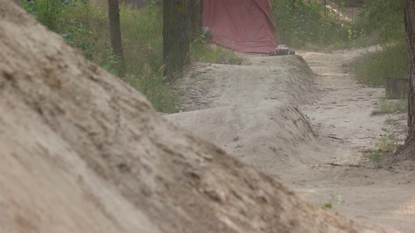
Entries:
{"type": "Polygon", "coordinates": [[[407,38],[407,58],[409,63],[408,88],[408,136],[397,154],[400,159],[415,159],[415,3],[403,0],[404,22],[407,38]]]}

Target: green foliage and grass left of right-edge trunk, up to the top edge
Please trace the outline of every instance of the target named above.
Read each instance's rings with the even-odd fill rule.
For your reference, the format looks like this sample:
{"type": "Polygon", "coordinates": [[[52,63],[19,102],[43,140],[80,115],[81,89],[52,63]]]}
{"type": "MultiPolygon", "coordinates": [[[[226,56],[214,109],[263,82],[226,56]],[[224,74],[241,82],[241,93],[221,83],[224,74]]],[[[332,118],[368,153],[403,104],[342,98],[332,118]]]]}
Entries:
{"type": "Polygon", "coordinates": [[[366,33],[380,32],[382,50],[354,62],[357,78],[364,84],[382,86],[385,76],[407,76],[402,1],[366,0],[360,24],[366,33]]]}

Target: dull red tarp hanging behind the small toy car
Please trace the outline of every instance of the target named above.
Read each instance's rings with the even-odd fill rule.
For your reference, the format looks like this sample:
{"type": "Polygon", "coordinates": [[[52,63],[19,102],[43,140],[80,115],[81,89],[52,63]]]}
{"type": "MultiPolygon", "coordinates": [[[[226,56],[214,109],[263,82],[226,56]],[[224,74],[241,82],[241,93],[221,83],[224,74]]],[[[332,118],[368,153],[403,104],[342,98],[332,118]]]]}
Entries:
{"type": "Polygon", "coordinates": [[[203,27],[212,41],[243,53],[269,53],[276,47],[269,0],[204,0],[203,27]]]}

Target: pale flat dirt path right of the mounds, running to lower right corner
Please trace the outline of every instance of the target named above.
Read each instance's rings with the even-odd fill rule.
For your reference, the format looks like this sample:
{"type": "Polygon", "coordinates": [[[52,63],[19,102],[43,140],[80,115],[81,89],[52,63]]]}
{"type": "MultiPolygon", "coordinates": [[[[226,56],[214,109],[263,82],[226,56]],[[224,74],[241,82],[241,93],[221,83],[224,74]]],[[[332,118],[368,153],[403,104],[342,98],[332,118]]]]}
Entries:
{"type": "MultiPolygon", "coordinates": [[[[373,50],[374,48],[369,48],[373,50]]],[[[330,165],[317,166],[305,182],[294,181],[298,192],[315,203],[333,204],[333,211],[402,232],[415,229],[413,167],[373,169],[363,152],[370,151],[382,134],[404,138],[406,114],[372,114],[385,96],[383,88],[358,84],[343,64],[362,50],[312,53],[300,51],[317,74],[324,91],[302,109],[320,135],[331,140],[330,165]],[[393,124],[390,124],[393,122],[393,124]],[[319,172],[325,175],[318,175],[319,172]],[[301,187],[303,185],[303,187],[301,187]],[[339,204],[340,203],[340,204],[339,204]]]]}

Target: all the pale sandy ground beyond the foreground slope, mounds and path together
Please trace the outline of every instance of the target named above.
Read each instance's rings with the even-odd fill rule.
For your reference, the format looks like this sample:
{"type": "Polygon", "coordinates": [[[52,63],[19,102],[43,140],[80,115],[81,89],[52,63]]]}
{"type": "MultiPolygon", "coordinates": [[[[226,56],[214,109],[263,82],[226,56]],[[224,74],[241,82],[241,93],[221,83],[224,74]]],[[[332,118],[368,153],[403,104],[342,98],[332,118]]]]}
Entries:
{"type": "Polygon", "coordinates": [[[248,55],[242,66],[196,63],[173,85],[182,112],[165,117],[281,177],[317,206],[414,232],[413,164],[373,164],[365,156],[384,133],[404,138],[406,115],[372,114],[384,90],[358,84],[345,66],[375,49],[248,55]]]}

